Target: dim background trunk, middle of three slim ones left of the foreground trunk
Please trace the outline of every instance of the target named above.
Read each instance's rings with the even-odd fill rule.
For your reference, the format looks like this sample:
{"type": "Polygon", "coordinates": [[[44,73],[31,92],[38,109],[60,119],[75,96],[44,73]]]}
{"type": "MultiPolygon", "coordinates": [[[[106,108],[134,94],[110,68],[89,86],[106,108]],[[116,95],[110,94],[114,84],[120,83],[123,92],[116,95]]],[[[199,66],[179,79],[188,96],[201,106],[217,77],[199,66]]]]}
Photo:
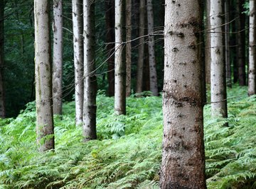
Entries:
{"type": "Polygon", "coordinates": [[[145,0],[139,1],[139,49],[137,62],[137,87],[136,92],[142,93],[143,87],[143,64],[144,64],[144,35],[145,30],[145,0]]]}

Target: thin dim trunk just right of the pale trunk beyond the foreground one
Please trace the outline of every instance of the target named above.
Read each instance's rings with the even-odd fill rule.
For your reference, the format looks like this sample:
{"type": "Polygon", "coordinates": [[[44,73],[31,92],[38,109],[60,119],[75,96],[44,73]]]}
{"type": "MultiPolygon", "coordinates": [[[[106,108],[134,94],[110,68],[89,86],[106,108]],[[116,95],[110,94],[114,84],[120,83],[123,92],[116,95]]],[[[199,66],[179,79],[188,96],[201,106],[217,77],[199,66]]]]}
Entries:
{"type": "Polygon", "coordinates": [[[230,67],[230,0],[225,0],[225,63],[227,86],[232,87],[230,67]]]}

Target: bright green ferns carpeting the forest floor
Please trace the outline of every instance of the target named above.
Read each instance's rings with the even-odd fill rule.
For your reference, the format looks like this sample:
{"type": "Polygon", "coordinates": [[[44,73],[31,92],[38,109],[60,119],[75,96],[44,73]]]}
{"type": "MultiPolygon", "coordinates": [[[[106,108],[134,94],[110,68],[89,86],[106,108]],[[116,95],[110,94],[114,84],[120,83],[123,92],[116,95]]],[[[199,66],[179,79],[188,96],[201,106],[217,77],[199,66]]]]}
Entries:
{"type": "MultiPolygon", "coordinates": [[[[229,96],[239,98],[228,101],[227,119],[210,118],[205,107],[207,185],[256,188],[256,98],[236,86],[229,96]]],[[[127,98],[119,117],[113,105],[97,96],[98,139],[84,144],[75,104],[65,103],[55,116],[55,152],[44,154],[36,150],[34,103],[0,120],[0,188],[159,188],[161,97],[127,98]]]]}

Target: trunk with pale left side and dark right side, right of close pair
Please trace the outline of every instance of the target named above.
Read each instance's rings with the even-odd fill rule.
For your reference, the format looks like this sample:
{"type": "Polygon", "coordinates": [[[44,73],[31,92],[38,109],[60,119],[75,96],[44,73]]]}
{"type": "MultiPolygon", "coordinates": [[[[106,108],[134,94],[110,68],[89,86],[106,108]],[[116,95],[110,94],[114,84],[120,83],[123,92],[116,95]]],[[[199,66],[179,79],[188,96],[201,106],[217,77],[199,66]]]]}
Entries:
{"type": "Polygon", "coordinates": [[[96,139],[96,95],[95,76],[95,3],[83,1],[84,19],[84,102],[82,134],[84,140],[96,139]]]}

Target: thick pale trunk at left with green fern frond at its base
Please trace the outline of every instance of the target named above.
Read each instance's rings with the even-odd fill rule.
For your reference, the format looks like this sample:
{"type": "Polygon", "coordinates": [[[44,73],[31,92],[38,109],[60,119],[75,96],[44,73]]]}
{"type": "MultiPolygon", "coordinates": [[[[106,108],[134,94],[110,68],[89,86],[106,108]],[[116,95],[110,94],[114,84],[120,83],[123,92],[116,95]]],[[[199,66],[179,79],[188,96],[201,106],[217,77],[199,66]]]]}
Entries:
{"type": "Polygon", "coordinates": [[[34,1],[36,134],[40,151],[54,149],[50,1],[34,1]]]}

